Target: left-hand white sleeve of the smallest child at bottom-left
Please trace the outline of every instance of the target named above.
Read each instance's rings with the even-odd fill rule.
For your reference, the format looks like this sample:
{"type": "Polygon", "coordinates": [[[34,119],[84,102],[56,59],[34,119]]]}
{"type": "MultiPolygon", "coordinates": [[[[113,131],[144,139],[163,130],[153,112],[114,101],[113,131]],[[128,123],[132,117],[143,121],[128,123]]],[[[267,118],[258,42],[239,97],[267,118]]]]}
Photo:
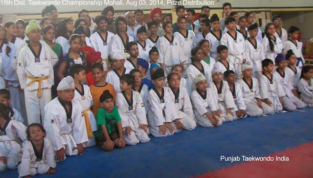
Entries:
{"type": "Polygon", "coordinates": [[[30,173],[30,163],[31,163],[31,157],[30,157],[31,153],[30,152],[31,152],[32,148],[30,146],[31,146],[30,144],[25,144],[23,147],[21,165],[18,169],[19,178],[29,176],[31,174],[30,173]]]}

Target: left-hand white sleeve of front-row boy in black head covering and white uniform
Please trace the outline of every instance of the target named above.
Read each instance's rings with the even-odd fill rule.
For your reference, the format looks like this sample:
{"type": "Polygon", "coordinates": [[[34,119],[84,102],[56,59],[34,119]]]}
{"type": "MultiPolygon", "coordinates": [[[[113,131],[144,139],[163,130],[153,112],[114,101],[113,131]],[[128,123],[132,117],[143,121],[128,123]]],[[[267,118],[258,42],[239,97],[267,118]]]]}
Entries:
{"type": "Polygon", "coordinates": [[[161,105],[158,102],[159,98],[153,92],[149,92],[149,103],[151,105],[151,111],[153,112],[154,122],[156,126],[164,124],[163,111],[161,105]]]}

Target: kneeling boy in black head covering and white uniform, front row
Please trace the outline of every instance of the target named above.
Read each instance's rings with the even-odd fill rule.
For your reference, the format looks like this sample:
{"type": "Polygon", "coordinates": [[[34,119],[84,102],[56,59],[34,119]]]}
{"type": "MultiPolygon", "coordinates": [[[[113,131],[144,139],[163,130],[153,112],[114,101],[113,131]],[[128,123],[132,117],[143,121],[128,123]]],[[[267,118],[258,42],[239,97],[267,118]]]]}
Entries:
{"type": "Polygon", "coordinates": [[[175,106],[171,100],[170,89],[163,88],[164,79],[162,68],[152,73],[152,82],[155,87],[149,91],[148,119],[150,132],[155,137],[165,137],[181,131],[175,124],[180,118],[177,112],[173,112],[175,106]]]}

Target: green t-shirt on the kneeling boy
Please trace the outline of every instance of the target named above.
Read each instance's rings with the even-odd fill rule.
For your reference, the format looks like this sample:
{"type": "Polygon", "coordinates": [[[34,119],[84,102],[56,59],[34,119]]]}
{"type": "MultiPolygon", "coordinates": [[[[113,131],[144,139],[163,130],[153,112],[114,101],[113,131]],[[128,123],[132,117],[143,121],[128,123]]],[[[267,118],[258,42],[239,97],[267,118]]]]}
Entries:
{"type": "Polygon", "coordinates": [[[102,135],[101,125],[106,125],[108,134],[114,132],[117,133],[116,122],[121,121],[121,117],[118,114],[117,108],[114,106],[111,113],[107,113],[103,108],[97,111],[97,128],[98,131],[94,133],[94,136],[102,135]]]}

